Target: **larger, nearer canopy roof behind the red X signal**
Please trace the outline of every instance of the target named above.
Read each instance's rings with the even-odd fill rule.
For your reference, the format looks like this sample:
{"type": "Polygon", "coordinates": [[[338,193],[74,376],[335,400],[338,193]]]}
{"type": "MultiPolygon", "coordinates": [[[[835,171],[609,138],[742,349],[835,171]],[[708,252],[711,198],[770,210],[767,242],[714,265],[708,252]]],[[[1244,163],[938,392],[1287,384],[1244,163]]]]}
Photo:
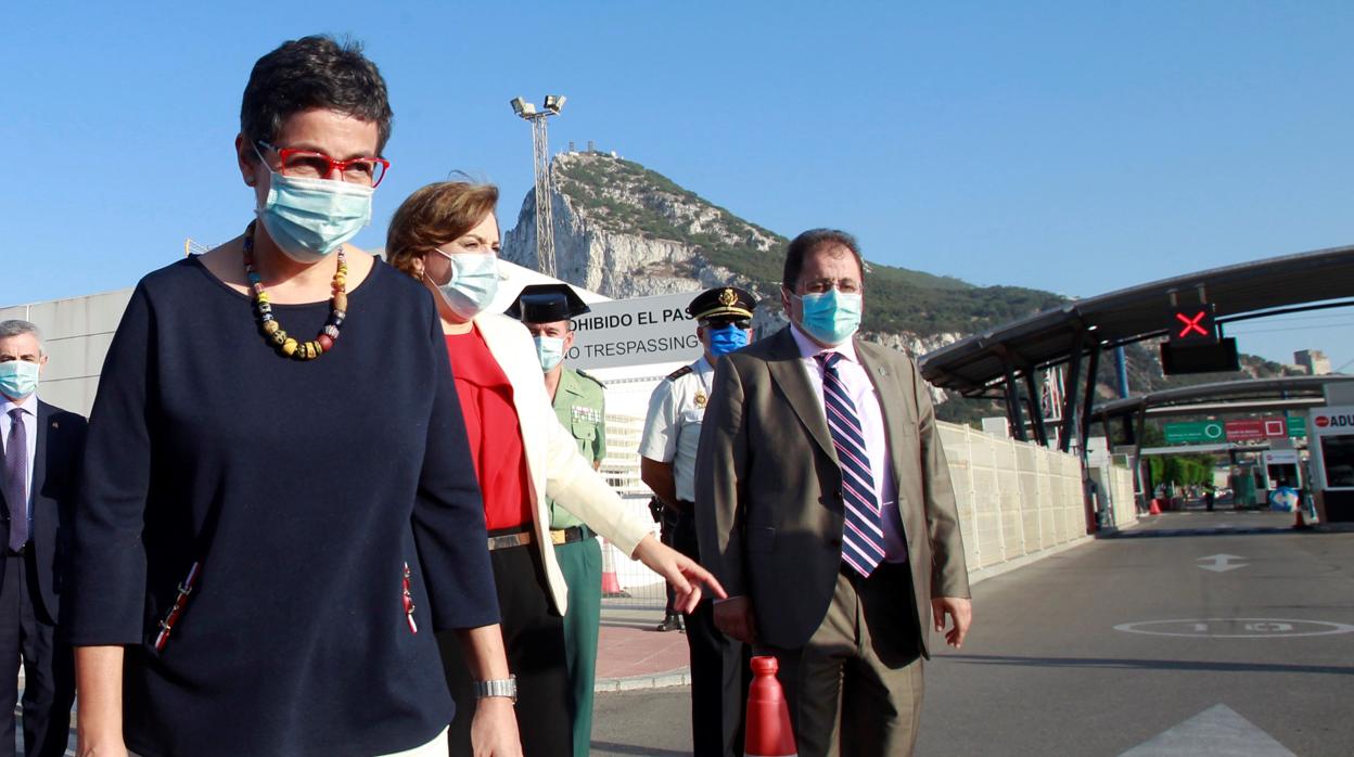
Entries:
{"type": "MultiPolygon", "coordinates": [[[[956,341],[918,363],[929,382],[980,391],[1006,376],[1067,362],[1072,352],[1166,334],[1173,297],[1212,302],[1216,322],[1296,303],[1354,295],[1354,246],[1339,246],[1200,271],[1076,299],[956,341]]],[[[1354,299],[1336,305],[1354,305],[1354,299]]]]}

